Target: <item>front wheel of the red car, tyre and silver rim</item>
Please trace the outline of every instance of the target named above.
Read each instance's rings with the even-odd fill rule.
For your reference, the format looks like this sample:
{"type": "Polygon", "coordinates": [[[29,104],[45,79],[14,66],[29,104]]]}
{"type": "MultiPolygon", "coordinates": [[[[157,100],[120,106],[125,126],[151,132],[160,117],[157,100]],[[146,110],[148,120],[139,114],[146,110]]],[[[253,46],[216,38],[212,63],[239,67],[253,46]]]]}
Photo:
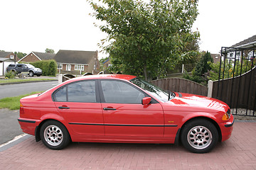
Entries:
{"type": "Polygon", "coordinates": [[[192,120],[182,128],[181,142],[190,152],[207,153],[218,142],[218,130],[209,120],[192,120]]]}

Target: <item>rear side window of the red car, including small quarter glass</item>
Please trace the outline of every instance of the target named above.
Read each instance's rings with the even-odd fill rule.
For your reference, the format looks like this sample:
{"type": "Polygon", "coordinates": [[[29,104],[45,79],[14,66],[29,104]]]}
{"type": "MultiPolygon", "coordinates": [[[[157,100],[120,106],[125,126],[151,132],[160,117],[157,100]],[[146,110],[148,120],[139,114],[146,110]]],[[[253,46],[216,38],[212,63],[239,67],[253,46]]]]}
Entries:
{"type": "Polygon", "coordinates": [[[95,81],[78,81],[68,84],[64,88],[56,91],[53,96],[55,101],[95,103],[95,81]]]}

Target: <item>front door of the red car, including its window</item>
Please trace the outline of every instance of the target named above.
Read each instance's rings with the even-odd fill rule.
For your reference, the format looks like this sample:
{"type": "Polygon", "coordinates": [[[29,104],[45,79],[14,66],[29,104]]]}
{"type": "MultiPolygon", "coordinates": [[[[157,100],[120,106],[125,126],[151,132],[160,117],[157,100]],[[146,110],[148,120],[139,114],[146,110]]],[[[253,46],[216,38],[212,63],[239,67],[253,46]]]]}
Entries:
{"type": "Polygon", "coordinates": [[[143,106],[142,98],[147,95],[127,81],[106,79],[100,83],[106,136],[164,135],[164,113],[159,103],[143,106]]]}

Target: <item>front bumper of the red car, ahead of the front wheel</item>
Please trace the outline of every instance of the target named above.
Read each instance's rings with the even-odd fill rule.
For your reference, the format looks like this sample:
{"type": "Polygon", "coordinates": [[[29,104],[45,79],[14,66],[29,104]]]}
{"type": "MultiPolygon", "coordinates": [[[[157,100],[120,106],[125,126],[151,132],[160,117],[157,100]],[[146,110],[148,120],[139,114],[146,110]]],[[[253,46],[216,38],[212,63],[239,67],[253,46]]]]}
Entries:
{"type": "Polygon", "coordinates": [[[234,117],[231,115],[230,120],[226,123],[219,123],[218,125],[220,126],[221,130],[221,135],[222,135],[222,142],[225,140],[228,140],[230,138],[231,133],[233,131],[233,125],[234,125],[234,117]]]}

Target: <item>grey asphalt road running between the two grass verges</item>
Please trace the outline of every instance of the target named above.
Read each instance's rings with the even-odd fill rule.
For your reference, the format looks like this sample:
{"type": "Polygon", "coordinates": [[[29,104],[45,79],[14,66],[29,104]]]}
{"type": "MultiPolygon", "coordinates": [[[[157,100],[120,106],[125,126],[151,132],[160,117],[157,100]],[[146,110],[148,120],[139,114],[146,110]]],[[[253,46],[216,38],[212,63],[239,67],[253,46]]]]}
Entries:
{"type": "Polygon", "coordinates": [[[0,85],[0,99],[30,94],[33,91],[46,91],[57,85],[58,81],[0,85]]]}

